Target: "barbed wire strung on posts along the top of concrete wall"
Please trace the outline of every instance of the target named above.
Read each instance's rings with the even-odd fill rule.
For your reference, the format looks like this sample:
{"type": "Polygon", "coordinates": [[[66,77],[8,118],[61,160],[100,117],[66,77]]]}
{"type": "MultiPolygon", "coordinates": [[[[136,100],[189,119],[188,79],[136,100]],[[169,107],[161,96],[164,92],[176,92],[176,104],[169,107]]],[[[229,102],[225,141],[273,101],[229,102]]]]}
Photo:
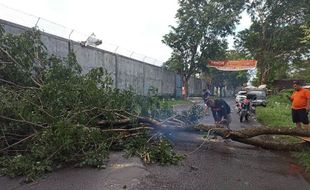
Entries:
{"type": "MultiPolygon", "coordinates": [[[[9,22],[13,22],[29,28],[36,27],[43,32],[50,33],[77,42],[84,41],[90,36],[85,34],[84,32],[69,28],[62,24],[58,24],[43,17],[38,17],[25,11],[9,7],[3,3],[0,3],[0,7],[1,7],[0,9],[1,19],[9,22]]],[[[97,46],[97,48],[115,54],[123,55],[132,59],[136,59],[138,61],[146,62],[152,65],[161,66],[163,64],[163,61],[160,61],[158,59],[149,57],[141,53],[137,53],[135,51],[129,50],[127,48],[121,47],[117,44],[110,43],[105,40],[102,40],[102,44],[97,46]]]]}

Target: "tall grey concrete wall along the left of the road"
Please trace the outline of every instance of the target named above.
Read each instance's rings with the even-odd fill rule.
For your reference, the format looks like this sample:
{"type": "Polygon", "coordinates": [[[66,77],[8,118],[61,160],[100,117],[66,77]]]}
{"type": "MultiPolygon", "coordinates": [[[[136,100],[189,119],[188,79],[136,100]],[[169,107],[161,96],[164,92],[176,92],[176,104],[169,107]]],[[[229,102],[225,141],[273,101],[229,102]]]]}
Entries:
{"type": "MultiPolygon", "coordinates": [[[[0,19],[0,24],[8,33],[19,34],[29,28],[0,19]]],[[[104,67],[111,75],[113,86],[119,89],[132,88],[136,93],[147,95],[151,87],[158,89],[159,94],[174,96],[176,89],[176,74],[164,71],[161,67],[144,63],[129,57],[111,53],[94,47],[82,47],[79,43],[69,41],[52,34],[42,33],[42,42],[49,53],[65,57],[72,49],[82,66],[83,73],[92,68],[104,67]]],[[[203,81],[191,78],[189,95],[202,94],[203,81]]]]}

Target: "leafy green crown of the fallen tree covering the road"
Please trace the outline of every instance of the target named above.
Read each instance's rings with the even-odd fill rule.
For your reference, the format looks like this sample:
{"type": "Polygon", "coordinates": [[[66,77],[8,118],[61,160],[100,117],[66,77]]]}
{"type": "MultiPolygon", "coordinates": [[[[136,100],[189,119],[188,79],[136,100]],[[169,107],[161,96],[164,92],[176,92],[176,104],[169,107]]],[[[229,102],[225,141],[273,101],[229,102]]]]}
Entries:
{"type": "Polygon", "coordinates": [[[139,96],[112,88],[103,68],[82,74],[73,52],[62,59],[48,55],[37,30],[14,36],[0,26],[0,61],[8,63],[0,67],[1,174],[33,181],[65,165],[104,168],[111,150],[146,163],[182,158],[137,122],[173,113],[161,106],[156,89],[139,96]],[[113,124],[124,119],[126,125],[113,124]]]}

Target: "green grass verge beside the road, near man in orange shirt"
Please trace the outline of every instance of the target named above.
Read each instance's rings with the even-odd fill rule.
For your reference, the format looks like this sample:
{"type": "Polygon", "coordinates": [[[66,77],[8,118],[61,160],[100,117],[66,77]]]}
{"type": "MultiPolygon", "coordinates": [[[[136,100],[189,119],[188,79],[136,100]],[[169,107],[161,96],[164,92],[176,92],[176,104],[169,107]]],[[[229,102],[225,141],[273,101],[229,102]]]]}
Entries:
{"type": "MultiPolygon", "coordinates": [[[[292,122],[290,102],[287,99],[287,95],[290,94],[290,91],[284,91],[269,97],[267,107],[257,108],[258,121],[267,127],[295,127],[292,122]]],[[[290,136],[279,136],[277,140],[300,142],[300,139],[290,136]]],[[[310,151],[294,152],[293,156],[307,172],[310,171],[310,151]]]]}

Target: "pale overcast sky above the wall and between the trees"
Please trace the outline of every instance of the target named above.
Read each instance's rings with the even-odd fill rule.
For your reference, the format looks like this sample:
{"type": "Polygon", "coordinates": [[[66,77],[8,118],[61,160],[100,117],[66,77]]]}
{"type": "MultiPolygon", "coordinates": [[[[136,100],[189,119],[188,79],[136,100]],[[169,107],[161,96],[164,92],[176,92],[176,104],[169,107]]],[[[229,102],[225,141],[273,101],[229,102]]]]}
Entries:
{"type": "MultiPolygon", "coordinates": [[[[14,10],[39,16],[38,26],[46,32],[83,41],[91,33],[103,41],[102,48],[126,56],[145,59],[160,65],[170,57],[171,49],[162,36],[175,25],[177,0],[0,0],[0,19],[34,26],[37,19],[14,10]],[[119,46],[119,48],[117,48],[119,46]],[[135,53],[132,53],[135,52],[135,53]]],[[[238,30],[249,27],[250,19],[243,14],[238,30]]],[[[232,37],[229,38],[232,48],[232,37]]]]}

